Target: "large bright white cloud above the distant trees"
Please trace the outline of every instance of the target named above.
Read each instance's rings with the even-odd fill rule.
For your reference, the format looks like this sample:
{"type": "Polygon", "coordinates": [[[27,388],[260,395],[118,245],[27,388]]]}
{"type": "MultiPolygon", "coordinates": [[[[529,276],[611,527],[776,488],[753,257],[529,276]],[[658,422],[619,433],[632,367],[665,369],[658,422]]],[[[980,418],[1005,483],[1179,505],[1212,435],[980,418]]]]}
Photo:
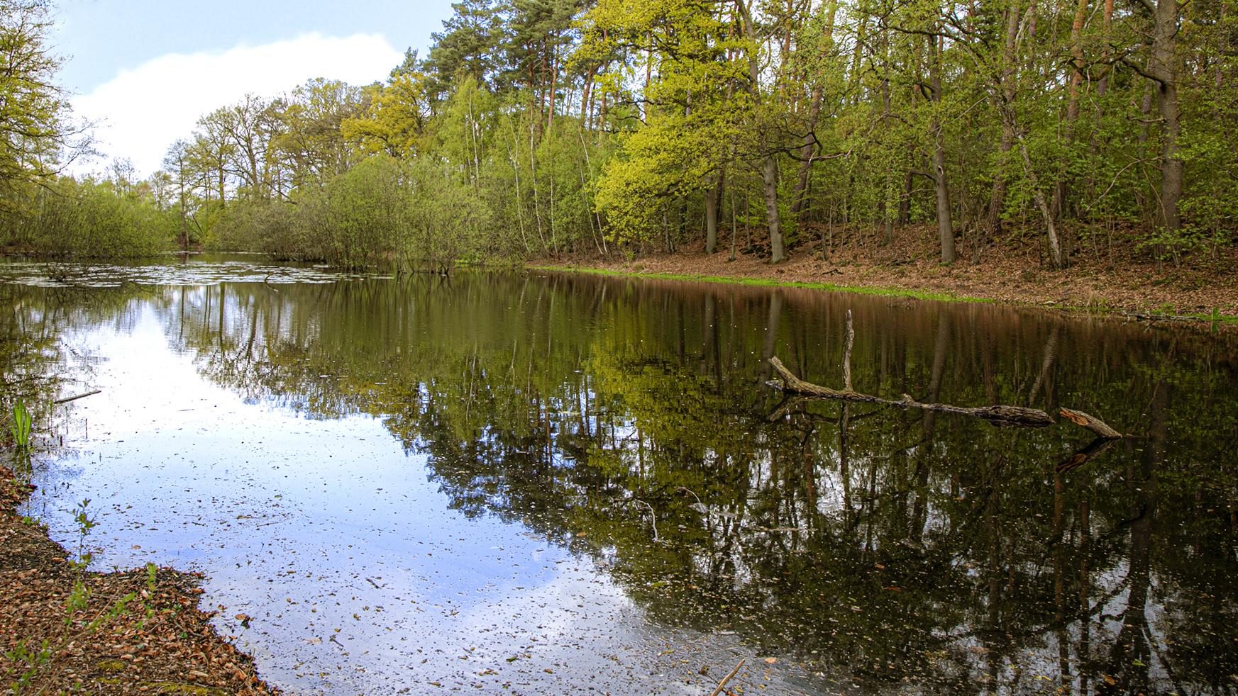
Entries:
{"type": "Polygon", "coordinates": [[[313,78],[369,84],[386,78],[402,59],[380,35],[364,33],[311,33],[225,52],[172,53],[74,99],[73,110],[102,121],[97,138],[106,159],[128,157],[145,177],[160,168],[168,146],[187,137],[199,116],[246,93],[275,96],[313,78]]]}

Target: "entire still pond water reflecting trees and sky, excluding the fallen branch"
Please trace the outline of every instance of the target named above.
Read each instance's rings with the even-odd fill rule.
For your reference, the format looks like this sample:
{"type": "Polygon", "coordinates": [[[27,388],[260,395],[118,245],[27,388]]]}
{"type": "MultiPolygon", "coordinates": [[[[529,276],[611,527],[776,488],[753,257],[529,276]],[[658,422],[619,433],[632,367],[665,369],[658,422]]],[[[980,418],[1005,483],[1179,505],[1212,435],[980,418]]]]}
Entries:
{"type": "Polygon", "coordinates": [[[77,548],[89,498],[97,567],[204,572],[290,694],[708,695],[740,659],[735,694],[1238,689],[1232,334],[253,257],[0,277],[6,377],[58,376],[25,513],[77,548]],[[1089,433],[784,401],[771,356],[842,386],[848,310],[858,391],[1130,436],[1055,473],[1089,433]]]}

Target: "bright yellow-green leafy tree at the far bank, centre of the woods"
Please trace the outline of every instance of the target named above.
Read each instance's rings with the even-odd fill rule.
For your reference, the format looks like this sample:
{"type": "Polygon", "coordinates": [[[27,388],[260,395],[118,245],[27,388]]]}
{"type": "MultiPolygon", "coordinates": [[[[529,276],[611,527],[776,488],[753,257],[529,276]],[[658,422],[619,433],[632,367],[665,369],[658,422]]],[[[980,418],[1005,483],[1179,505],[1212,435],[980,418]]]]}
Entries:
{"type": "MultiPolygon", "coordinates": [[[[706,226],[717,242],[717,205],[723,171],[739,157],[760,162],[774,156],[764,141],[745,137],[761,115],[754,108],[759,85],[755,47],[735,31],[729,2],[704,7],[683,0],[630,4],[603,0],[584,19],[584,37],[573,61],[604,61],[646,49],[644,127],[623,140],[598,182],[597,204],[621,239],[641,239],[673,200],[706,192],[706,226]],[[656,64],[656,73],[654,67],[656,64]],[[744,126],[748,125],[749,129],[744,126]]],[[[614,89],[614,85],[612,85],[614,89]]],[[[770,209],[766,208],[769,211],[770,209]]],[[[782,260],[776,179],[769,215],[774,262],[782,260]]],[[[662,225],[664,231],[666,225],[662,225]]],[[[669,231],[667,231],[669,234],[669,231]]],[[[707,252],[713,251],[707,242],[707,252]]],[[[667,241],[667,247],[673,245],[667,241]]]]}

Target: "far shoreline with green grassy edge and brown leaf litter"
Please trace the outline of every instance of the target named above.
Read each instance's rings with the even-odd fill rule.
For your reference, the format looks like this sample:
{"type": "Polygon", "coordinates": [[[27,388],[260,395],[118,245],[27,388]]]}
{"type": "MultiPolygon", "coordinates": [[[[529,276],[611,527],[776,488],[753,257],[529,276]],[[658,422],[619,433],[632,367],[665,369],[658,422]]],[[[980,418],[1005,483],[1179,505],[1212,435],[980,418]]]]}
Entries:
{"type": "MultiPolygon", "coordinates": [[[[895,252],[896,253],[896,252],[895,252]]],[[[591,273],[631,278],[810,288],[941,302],[978,302],[1054,308],[1136,320],[1238,323],[1238,283],[1228,272],[1232,258],[1187,267],[1127,260],[1124,267],[1076,260],[1063,271],[1039,263],[999,258],[943,266],[915,253],[904,261],[847,257],[822,261],[797,251],[773,266],[758,255],[728,251],[706,256],[703,244],[657,252],[631,261],[600,257],[536,258],[530,271],[591,273]],[[1226,267],[1218,274],[1217,266],[1226,267]],[[1201,281],[1208,274],[1207,282],[1201,281]]],[[[1233,256],[1233,255],[1229,255],[1233,256]]],[[[1236,263],[1234,266],[1238,266],[1236,263]]]]}

